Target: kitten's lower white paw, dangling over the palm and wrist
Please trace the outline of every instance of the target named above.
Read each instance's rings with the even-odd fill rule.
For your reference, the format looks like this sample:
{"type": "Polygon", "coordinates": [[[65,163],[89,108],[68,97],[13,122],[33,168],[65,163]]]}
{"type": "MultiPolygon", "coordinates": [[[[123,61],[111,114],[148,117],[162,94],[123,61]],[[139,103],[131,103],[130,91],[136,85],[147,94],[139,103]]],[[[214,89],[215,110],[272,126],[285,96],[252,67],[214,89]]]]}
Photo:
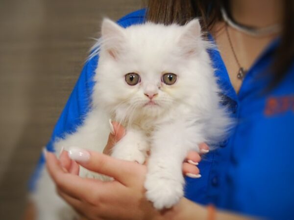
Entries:
{"type": "Polygon", "coordinates": [[[184,196],[181,181],[166,178],[158,174],[147,174],[145,180],[146,197],[153,202],[154,208],[171,208],[184,196]]]}

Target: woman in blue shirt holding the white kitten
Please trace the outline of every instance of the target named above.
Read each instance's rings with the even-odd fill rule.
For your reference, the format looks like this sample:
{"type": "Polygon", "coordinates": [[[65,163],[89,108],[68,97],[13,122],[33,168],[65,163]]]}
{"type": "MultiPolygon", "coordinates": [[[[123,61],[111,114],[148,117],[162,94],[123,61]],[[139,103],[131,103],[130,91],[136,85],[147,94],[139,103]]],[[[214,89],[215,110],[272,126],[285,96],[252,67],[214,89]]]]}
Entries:
{"type": "MultiPolygon", "coordinates": [[[[224,91],[223,105],[237,125],[214,150],[208,152],[202,144],[200,149],[207,154],[201,161],[198,153],[187,154],[185,198],[170,209],[157,210],[146,199],[145,165],[105,155],[125,134],[116,122],[111,124],[105,154],[63,151],[59,159],[46,154],[59,195],[91,220],[293,219],[293,14],[291,0],[149,0],[147,11],[121,19],[118,23],[127,27],[146,20],[185,24],[200,18],[206,38],[219,48],[209,55],[224,91]],[[117,181],[83,179],[79,165],[117,181]]],[[[52,141],[70,132],[87,112],[96,65],[92,58],[84,67],[52,141]]]]}

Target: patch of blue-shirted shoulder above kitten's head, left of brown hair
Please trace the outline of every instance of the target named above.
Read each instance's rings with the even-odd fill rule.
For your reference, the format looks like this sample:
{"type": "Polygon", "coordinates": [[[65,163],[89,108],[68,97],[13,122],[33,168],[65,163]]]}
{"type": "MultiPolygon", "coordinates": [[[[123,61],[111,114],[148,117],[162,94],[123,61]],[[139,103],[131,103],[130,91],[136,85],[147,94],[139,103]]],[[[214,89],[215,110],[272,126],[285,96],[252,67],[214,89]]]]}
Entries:
{"type": "Polygon", "coordinates": [[[146,9],[140,9],[134,12],[131,12],[120,20],[117,21],[122,27],[128,27],[133,24],[143,23],[146,19],[146,9]]]}

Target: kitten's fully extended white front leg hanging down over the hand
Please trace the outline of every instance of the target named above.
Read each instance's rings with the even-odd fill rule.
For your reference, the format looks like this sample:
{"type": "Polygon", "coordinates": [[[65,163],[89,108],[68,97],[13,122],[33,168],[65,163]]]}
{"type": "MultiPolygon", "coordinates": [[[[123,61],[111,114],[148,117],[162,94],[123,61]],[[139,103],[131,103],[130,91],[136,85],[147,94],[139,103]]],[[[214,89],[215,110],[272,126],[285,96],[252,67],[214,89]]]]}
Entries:
{"type": "Polygon", "coordinates": [[[196,128],[172,125],[153,138],[145,180],[146,197],[156,209],[171,208],[184,196],[182,163],[189,150],[198,150],[196,128]]]}

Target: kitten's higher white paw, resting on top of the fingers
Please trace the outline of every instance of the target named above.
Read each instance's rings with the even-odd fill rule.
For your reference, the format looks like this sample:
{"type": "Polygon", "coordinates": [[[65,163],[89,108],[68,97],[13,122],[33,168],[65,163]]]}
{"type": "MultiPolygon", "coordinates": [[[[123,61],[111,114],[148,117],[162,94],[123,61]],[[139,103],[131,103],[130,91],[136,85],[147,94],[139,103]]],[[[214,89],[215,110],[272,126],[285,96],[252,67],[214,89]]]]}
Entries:
{"type": "Polygon", "coordinates": [[[143,164],[147,157],[146,144],[145,142],[121,141],[113,148],[111,156],[143,164]]]}

